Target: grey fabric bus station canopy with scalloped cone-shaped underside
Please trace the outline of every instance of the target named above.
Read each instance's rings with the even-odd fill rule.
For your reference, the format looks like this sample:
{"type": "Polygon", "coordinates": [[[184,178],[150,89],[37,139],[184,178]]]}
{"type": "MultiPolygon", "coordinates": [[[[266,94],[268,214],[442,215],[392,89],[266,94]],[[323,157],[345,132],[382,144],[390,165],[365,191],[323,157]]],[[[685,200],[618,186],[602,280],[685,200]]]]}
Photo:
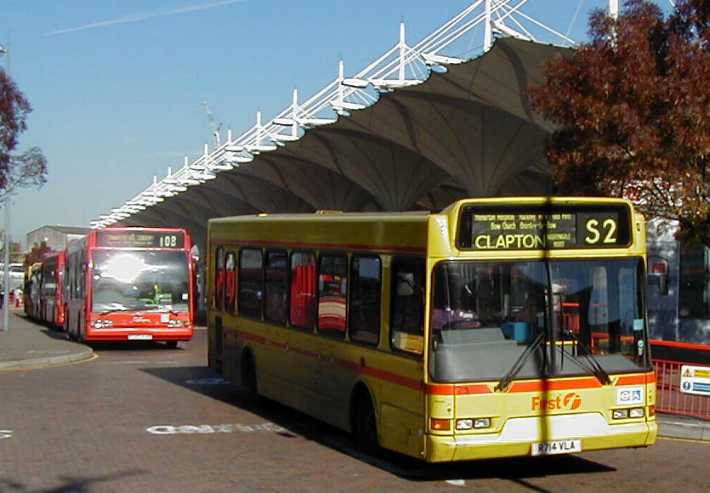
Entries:
{"type": "Polygon", "coordinates": [[[184,225],[204,244],[214,217],[437,210],[462,197],[546,193],[544,139],[552,125],[532,110],[528,89],[564,51],[498,39],[478,58],[381,93],[371,106],[308,129],[123,224],[184,225]]]}

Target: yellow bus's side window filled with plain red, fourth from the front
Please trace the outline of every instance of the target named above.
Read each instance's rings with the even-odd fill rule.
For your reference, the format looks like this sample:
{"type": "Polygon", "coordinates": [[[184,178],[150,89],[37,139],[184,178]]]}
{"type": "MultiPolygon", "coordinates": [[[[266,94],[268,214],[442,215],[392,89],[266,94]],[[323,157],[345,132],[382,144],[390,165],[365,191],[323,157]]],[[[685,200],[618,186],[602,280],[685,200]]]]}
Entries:
{"type": "Polygon", "coordinates": [[[291,254],[290,320],[293,327],[312,330],[316,313],[316,257],[312,252],[291,254]]]}

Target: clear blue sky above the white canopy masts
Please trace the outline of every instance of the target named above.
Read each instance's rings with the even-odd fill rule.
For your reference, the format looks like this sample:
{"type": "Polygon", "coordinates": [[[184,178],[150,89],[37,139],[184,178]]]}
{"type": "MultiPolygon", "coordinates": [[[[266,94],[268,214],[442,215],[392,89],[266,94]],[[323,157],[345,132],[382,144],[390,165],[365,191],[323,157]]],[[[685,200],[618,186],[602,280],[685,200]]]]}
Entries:
{"type": "MultiPolygon", "coordinates": [[[[210,138],[203,100],[238,135],[257,108],[271,118],[294,87],[305,98],[331,81],[341,56],[359,71],[397,42],[401,19],[412,45],[470,3],[2,0],[0,44],[34,108],[20,147],[49,162],[47,184],[14,200],[13,238],[88,226],[197,156],[210,138]]],[[[606,5],[529,0],[525,12],[583,40],[588,11],[606,5]]]]}

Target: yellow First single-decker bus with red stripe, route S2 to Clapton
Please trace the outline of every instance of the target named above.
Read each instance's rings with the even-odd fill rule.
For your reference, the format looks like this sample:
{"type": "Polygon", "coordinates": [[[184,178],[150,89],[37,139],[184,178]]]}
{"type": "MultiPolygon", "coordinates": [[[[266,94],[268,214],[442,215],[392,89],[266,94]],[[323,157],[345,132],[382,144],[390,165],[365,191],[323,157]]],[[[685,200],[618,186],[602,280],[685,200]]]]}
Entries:
{"type": "Polygon", "coordinates": [[[624,200],[209,222],[209,365],[431,462],[656,440],[643,217],[624,200]]]}

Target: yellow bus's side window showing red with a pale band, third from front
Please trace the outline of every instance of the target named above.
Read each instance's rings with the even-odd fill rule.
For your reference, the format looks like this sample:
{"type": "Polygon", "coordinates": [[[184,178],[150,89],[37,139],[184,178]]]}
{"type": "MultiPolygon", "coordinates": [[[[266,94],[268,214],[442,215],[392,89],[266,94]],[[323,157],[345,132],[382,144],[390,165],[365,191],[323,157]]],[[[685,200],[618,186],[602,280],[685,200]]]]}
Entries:
{"type": "Polygon", "coordinates": [[[345,338],[348,313],[348,258],[321,255],[318,269],[318,331],[345,338]]]}

